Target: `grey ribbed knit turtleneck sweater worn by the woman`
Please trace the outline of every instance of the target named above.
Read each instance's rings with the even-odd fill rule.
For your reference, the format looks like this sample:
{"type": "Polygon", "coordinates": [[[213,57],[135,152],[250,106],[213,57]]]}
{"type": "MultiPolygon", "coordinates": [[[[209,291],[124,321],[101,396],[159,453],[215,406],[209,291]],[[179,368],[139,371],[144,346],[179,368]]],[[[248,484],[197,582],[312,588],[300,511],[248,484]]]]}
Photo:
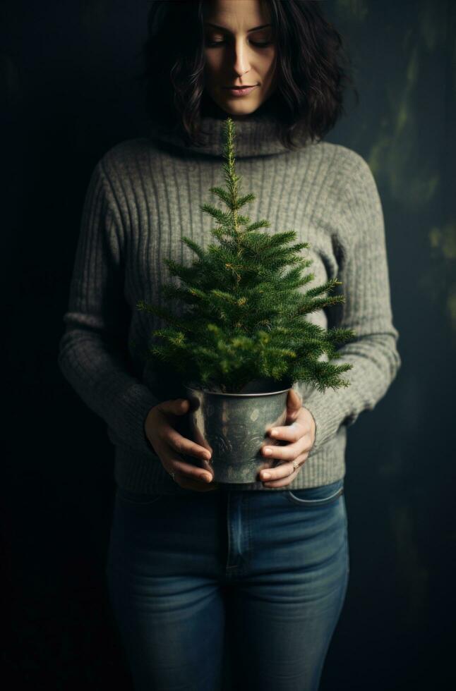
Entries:
{"type": "MultiPolygon", "coordinates": [[[[172,480],[145,436],[152,406],[185,398],[179,377],[154,371],[143,355],[152,330],[167,324],[136,303],[167,303],[160,285],[170,280],[163,259],[186,265],[195,259],[189,236],[208,247],[213,219],[200,204],[213,202],[210,187],[223,184],[224,120],[203,118],[203,147],[186,147],[164,128],[115,145],[92,171],[85,197],[71,279],[59,367],[88,407],[107,424],[114,444],[119,487],[158,494],[188,494],[172,480]]],[[[325,329],[354,329],[335,364],[349,362],[347,387],[324,393],[296,383],[316,422],[306,462],[287,489],[316,487],[344,477],[347,427],[373,410],[401,365],[392,324],[383,211],[366,161],[342,145],[320,140],[292,152],[274,135],[268,116],[235,121],[236,173],[240,192],[253,192],[252,221],[266,218],[270,232],[294,229],[308,242],[308,287],[337,277],[344,303],[307,315],[325,329]]],[[[333,291],[332,295],[337,294],[333,291]]],[[[179,307],[172,303],[179,314],[179,307]]],[[[196,462],[196,459],[195,459],[196,462]]],[[[231,489],[276,491],[260,481],[231,489]]]]}

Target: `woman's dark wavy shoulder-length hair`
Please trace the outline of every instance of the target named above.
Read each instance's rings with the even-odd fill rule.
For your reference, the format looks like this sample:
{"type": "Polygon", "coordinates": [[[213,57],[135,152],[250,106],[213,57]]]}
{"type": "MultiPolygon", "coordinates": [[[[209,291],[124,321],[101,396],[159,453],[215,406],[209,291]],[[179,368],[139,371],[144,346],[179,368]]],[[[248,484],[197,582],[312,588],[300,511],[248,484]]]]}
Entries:
{"type": "MultiPolygon", "coordinates": [[[[200,145],[201,117],[211,114],[204,88],[203,8],[207,0],[155,0],[143,47],[145,108],[152,123],[172,126],[187,145],[200,145]]],[[[268,4],[277,47],[277,86],[257,111],[276,122],[282,145],[321,139],[345,113],[343,94],[354,88],[342,37],[316,0],[260,0],[268,4]],[[303,141],[304,140],[304,141],[303,141]]]]}

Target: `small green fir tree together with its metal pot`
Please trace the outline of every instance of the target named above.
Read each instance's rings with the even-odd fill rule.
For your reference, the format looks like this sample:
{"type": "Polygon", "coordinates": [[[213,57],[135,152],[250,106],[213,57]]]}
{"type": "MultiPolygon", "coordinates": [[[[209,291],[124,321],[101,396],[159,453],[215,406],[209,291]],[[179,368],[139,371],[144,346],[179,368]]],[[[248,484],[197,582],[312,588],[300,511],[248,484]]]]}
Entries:
{"type": "Polygon", "coordinates": [[[343,295],[326,295],[342,283],[330,279],[299,290],[314,278],[301,275],[312,264],[301,254],[310,245],[292,244],[293,230],[260,232],[270,227],[269,221],[251,223],[240,213],[256,197],[239,195],[234,140],[234,121],[228,117],[222,151],[226,187],[210,188],[227,210],[208,203],[200,207],[217,223],[211,230],[217,243],[204,250],[184,236],[196,254],[192,266],[164,260],[181,285],[164,284],[162,295],[181,302],[183,314],[144,300],[136,307],[171,324],[152,331],[163,342],[151,345],[147,357],[152,367],[166,362],[181,377],[190,401],[187,436],[212,452],[215,482],[250,483],[259,470],[275,465],[261,448],[267,430],[284,424],[294,382],[311,382],[322,392],[349,386],[340,374],[352,365],[330,360],[340,357],[337,346],[356,333],[323,329],[306,319],[306,314],[344,302],[343,295]],[[324,355],[327,360],[321,360],[324,355]]]}

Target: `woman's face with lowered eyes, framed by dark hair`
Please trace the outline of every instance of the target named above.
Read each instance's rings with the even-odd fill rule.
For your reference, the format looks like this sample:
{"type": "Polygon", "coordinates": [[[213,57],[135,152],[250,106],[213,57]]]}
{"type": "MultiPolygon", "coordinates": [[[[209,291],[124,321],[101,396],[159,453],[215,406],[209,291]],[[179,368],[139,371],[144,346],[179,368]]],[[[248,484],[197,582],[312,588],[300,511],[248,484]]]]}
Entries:
{"type": "Polygon", "coordinates": [[[260,0],[212,0],[203,10],[205,90],[233,119],[256,111],[275,90],[276,47],[260,0]],[[260,28],[258,28],[260,27],[260,28]],[[246,94],[229,87],[253,87],[246,94]]]}

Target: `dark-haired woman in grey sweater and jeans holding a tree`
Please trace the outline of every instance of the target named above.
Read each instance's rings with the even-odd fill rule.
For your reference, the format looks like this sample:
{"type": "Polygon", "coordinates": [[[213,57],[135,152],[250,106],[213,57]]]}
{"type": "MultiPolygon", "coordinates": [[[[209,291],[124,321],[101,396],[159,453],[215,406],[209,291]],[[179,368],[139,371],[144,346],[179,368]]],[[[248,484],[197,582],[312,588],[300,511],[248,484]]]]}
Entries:
{"type": "Polygon", "coordinates": [[[90,180],[59,365],[115,446],[107,578],[136,690],[219,688],[225,631],[234,688],[316,690],[344,603],[347,426],[401,362],[376,183],[359,154],[322,141],[347,75],[319,6],[155,3],[150,136],[110,149],[90,180]],[[251,218],[310,243],[315,285],[337,276],[345,295],[316,323],[358,334],[341,349],[350,386],[291,389],[277,467],[239,486],[215,483],[205,448],[179,432],[188,401],[148,365],[160,322],[136,309],[159,297],[164,257],[193,259],[182,234],[212,240],[200,204],[221,182],[227,115],[251,218]]]}

